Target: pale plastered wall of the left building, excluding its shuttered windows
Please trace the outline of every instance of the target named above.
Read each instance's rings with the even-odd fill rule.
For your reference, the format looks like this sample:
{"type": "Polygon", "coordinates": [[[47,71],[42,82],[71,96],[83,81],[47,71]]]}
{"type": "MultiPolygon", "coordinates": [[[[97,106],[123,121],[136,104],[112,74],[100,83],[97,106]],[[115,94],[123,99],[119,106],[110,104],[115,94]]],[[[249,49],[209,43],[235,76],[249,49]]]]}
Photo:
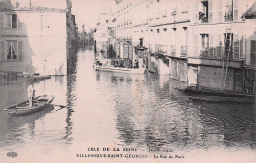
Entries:
{"type": "Polygon", "coordinates": [[[3,62],[0,70],[30,71],[66,75],[66,13],[65,12],[16,12],[22,29],[2,30],[3,40],[22,40],[23,59],[20,62],[3,62]],[[58,20],[56,22],[56,20],[58,20]],[[44,71],[45,70],[45,71],[44,71]]]}

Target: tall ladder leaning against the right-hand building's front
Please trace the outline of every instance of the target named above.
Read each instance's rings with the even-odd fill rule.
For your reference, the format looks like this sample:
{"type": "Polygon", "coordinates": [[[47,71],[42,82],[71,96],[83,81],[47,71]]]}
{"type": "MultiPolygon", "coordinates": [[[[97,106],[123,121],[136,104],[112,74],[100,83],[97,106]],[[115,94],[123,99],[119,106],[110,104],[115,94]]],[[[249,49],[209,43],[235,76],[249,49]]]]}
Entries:
{"type": "Polygon", "coordinates": [[[226,28],[220,90],[222,90],[222,88],[225,88],[225,85],[226,85],[227,73],[228,73],[228,67],[229,67],[229,58],[230,58],[230,54],[232,51],[232,39],[233,39],[233,34],[231,33],[231,29],[226,28]],[[226,54],[227,54],[227,56],[225,56],[226,54]],[[226,59],[226,65],[224,64],[225,59],[226,59]],[[224,74],[224,67],[225,67],[225,74],[224,74]],[[222,86],[223,80],[224,80],[224,87],[222,86]]]}

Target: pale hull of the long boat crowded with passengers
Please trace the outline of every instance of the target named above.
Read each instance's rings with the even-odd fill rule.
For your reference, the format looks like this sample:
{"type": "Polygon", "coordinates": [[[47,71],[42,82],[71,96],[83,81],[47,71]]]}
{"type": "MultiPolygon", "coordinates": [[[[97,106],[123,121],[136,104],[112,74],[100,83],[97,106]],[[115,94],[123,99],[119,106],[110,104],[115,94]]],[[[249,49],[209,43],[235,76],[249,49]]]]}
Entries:
{"type": "Polygon", "coordinates": [[[145,67],[124,68],[124,67],[98,65],[96,63],[93,65],[93,68],[95,71],[111,71],[111,72],[134,73],[134,74],[143,74],[146,70],[145,67]]]}

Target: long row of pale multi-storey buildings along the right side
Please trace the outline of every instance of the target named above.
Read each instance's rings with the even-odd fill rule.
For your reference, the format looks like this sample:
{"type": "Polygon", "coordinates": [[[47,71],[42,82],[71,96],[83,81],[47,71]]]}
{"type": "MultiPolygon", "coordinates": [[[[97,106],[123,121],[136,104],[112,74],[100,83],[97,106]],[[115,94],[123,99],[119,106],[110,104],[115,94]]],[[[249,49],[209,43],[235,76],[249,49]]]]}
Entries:
{"type": "Polygon", "coordinates": [[[250,0],[116,0],[115,50],[187,90],[253,94],[253,27],[250,0]]]}

